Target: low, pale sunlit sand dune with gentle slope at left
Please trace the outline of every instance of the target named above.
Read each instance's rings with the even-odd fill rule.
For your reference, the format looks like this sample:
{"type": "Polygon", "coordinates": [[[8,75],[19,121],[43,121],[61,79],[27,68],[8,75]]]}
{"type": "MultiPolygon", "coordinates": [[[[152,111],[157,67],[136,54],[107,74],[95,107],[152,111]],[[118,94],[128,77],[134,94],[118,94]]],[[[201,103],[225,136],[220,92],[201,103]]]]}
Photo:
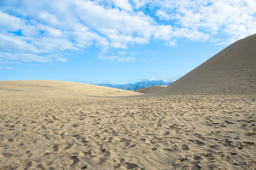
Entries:
{"type": "Polygon", "coordinates": [[[0,95],[49,97],[128,96],[141,93],[82,83],[54,80],[0,81],[0,95]],[[13,93],[15,92],[15,93],[13,93]]]}

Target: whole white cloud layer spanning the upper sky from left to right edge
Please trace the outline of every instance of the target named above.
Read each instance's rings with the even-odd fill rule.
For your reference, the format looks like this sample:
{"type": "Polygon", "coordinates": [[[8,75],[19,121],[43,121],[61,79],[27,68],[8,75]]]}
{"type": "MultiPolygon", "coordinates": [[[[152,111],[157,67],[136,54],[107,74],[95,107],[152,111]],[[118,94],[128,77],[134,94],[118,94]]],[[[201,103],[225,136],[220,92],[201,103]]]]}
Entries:
{"type": "Polygon", "coordinates": [[[128,49],[154,40],[229,44],[255,30],[255,0],[1,0],[0,6],[0,51],[10,56],[5,61],[51,62],[47,56],[63,51],[128,49]]]}

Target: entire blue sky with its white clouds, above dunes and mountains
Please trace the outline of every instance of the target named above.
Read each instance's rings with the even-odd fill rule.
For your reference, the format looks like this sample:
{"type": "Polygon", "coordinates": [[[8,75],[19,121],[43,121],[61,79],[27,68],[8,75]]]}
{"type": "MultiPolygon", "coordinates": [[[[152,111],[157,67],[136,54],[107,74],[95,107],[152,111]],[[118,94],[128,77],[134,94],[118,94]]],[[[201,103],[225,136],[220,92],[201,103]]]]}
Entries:
{"type": "Polygon", "coordinates": [[[173,81],[255,33],[255,0],[0,0],[0,80],[173,81]]]}

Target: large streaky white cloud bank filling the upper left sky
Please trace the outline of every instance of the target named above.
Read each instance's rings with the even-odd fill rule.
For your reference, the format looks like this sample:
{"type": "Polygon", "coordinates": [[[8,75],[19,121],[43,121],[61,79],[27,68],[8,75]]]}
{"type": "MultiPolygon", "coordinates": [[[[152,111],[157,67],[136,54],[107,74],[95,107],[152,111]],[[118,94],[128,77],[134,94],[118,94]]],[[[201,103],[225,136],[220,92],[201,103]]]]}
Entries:
{"type": "MultiPolygon", "coordinates": [[[[81,51],[91,45],[103,51],[127,49],[128,44],[148,43],[155,29],[153,19],[141,11],[133,11],[128,0],[115,0],[113,4],[118,8],[88,0],[51,3],[24,0],[19,4],[3,0],[2,4],[0,50],[12,52],[13,56],[81,51]],[[17,31],[21,34],[16,34],[17,31]]],[[[20,59],[25,61],[23,57],[20,59]]]]}

